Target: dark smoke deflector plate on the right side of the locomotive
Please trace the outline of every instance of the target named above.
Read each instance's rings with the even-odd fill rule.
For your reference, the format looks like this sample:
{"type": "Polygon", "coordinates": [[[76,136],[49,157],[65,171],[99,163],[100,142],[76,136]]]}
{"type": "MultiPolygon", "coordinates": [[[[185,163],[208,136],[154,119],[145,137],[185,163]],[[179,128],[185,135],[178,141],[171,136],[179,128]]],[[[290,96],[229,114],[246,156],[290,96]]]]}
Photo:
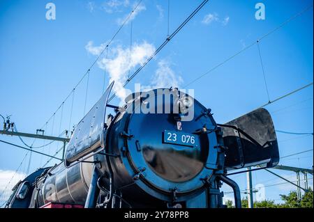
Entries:
{"type": "Polygon", "coordinates": [[[227,147],[225,166],[229,169],[279,162],[278,142],[271,116],[266,109],[256,109],[220,125],[227,147]]]}

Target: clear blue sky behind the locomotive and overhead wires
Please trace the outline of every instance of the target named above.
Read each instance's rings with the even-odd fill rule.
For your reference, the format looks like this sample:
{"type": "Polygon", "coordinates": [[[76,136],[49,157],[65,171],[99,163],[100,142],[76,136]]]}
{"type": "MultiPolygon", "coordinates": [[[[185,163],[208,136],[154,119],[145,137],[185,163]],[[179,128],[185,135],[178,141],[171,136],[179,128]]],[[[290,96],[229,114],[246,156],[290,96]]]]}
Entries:
{"type": "MultiPolygon", "coordinates": [[[[119,29],[119,21],[130,13],[137,1],[54,0],[51,2],[56,6],[55,20],[45,18],[48,2],[0,0],[0,114],[12,115],[11,120],[21,132],[35,133],[45,124],[94,62],[97,56],[95,50],[103,49],[102,44],[112,38],[119,29]]],[[[170,0],[170,33],[200,2],[170,0]]],[[[133,79],[129,89],[133,90],[135,83],[156,86],[156,81],[186,86],[311,4],[313,1],[307,0],[209,1],[133,79]],[[255,19],[257,2],[264,3],[266,7],[264,20],[255,19]],[[170,79],[158,79],[160,73],[167,73],[170,79]]],[[[133,48],[138,47],[144,59],[149,49],[157,48],[167,37],[167,1],[143,0],[140,6],[141,10],[132,21],[132,39],[133,48]]],[[[117,62],[119,50],[128,52],[130,25],[126,24],[110,45],[107,60],[97,63],[91,70],[87,110],[103,93],[104,77],[107,85],[110,77],[117,74],[116,67],[112,68],[110,64],[117,62]],[[104,64],[112,69],[105,72],[104,64]]],[[[313,8],[264,38],[260,42],[260,51],[271,100],[311,83],[313,8]]],[[[132,73],[140,61],[121,69],[126,72],[130,69],[132,73]]],[[[71,125],[84,116],[86,88],[87,79],[84,79],[75,90],[71,125]]],[[[221,123],[266,103],[268,98],[257,45],[188,85],[188,88],[195,90],[195,99],[211,108],[216,121],[221,123]]],[[[72,97],[63,106],[62,121],[59,111],[48,123],[47,134],[57,136],[63,129],[68,129],[71,101],[72,97]]],[[[118,104],[119,98],[113,103],[118,104]]],[[[276,129],[313,132],[313,86],[266,108],[276,129]]],[[[280,133],[277,136],[281,156],[313,149],[313,136],[280,133]]],[[[0,137],[22,145],[18,138],[0,137]]],[[[29,144],[33,142],[27,138],[25,141],[29,144]]],[[[38,140],[33,145],[44,143],[47,141],[38,140]]],[[[52,143],[38,151],[54,154],[60,146],[52,143]]],[[[0,143],[0,153],[0,187],[3,189],[27,151],[0,143]]],[[[29,154],[19,169],[20,174],[27,171],[28,161],[29,154]]],[[[45,161],[47,157],[32,154],[30,171],[43,166],[45,161]]],[[[311,168],[313,152],[282,159],[281,164],[311,168]]],[[[277,170],[276,173],[292,180],[295,178],[291,172],[277,170]]],[[[239,182],[241,189],[246,189],[245,175],[234,176],[234,180],[239,182]]],[[[281,182],[264,171],[253,173],[253,186],[281,182]]],[[[267,187],[266,196],[277,201],[279,193],[287,193],[291,189],[294,188],[288,184],[267,187]]]]}

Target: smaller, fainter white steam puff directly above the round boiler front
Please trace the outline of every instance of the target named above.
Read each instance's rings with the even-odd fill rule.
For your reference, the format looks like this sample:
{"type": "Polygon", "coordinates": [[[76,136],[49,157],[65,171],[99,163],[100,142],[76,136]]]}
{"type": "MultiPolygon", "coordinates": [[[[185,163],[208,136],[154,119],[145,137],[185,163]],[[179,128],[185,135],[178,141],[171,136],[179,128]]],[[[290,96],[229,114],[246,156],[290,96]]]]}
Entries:
{"type": "Polygon", "coordinates": [[[158,62],[158,69],[156,70],[154,77],[151,79],[151,84],[149,84],[149,86],[142,86],[142,90],[170,87],[180,88],[182,83],[182,77],[170,68],[169,61],[163,59],[158,62]]]}

